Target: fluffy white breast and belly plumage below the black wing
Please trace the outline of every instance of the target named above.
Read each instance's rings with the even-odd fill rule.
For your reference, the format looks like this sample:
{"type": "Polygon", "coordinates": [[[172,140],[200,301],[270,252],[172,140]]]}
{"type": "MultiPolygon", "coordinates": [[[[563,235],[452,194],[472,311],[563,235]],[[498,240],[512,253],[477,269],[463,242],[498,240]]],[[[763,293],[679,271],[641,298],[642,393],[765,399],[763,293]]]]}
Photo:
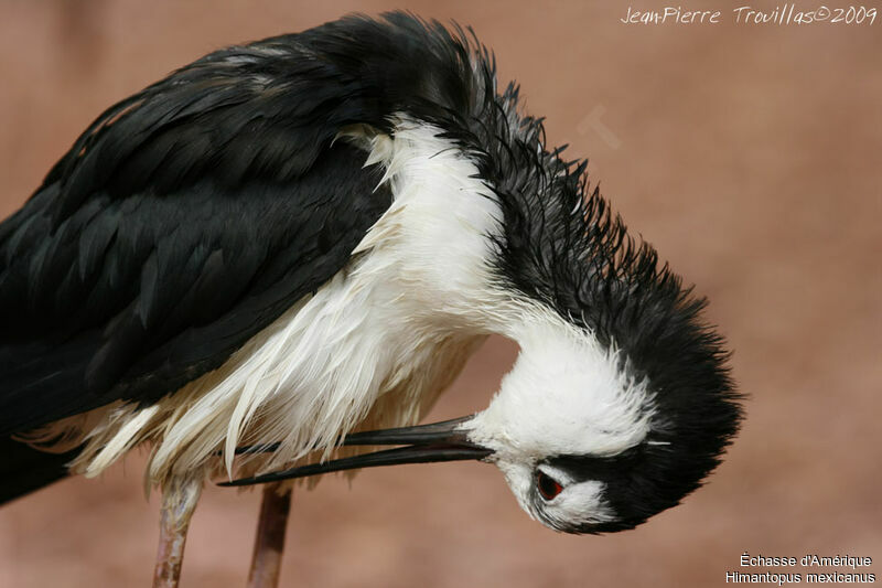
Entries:
{"type": "Polygon", "coordinates": [[[419,420],[487,333],[485,309],[506,303],[490,286],[498,206],[435,135],[401,118],[394,139],[362,137],[394,203],[351,263],[218,370],[152,407],[99,409],[75,469],[97,475],[146,440],[153,484],[216,468],[218,450],[232,474],[243,443],[280,441],[260,464],[275,469],[354,428],[419,420]]]}

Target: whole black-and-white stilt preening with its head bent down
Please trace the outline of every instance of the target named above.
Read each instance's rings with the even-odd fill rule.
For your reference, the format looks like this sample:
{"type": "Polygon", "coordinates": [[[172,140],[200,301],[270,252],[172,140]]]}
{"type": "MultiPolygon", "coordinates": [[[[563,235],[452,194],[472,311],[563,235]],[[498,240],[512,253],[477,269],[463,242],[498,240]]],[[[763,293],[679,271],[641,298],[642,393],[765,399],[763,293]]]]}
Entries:
{"type": "Polygon", "coordinates": [[[632,528],[738,429],[703,306],[472,33],[232,46],[107,109],[0,225],[0,498],[152,447],[158,585],[208,479],[477,459],[553,530],[632,528]],[[487,408],[418,426],[492,333],[520,352],[487,408]]]}

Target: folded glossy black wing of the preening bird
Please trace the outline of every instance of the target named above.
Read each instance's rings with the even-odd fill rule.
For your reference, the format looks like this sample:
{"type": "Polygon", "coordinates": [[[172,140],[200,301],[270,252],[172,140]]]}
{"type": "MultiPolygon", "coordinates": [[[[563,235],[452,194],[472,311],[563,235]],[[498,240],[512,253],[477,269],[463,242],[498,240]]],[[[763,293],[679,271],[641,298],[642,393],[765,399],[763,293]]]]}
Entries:
{"type": "Polygon", "coordinates": [[[0,434],[218,367],[348,260],[390,203],[333,139],[357,81],[297,38],[106,111],[0,225],[0,434]]]}

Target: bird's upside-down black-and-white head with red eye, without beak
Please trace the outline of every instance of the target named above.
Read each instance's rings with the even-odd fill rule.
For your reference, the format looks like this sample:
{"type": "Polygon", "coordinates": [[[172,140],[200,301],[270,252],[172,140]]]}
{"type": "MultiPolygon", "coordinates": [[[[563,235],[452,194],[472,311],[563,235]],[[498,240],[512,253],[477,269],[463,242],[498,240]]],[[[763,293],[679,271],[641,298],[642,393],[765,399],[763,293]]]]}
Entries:
{"type": "Polygon", "coordinates": [[[460,427],[493,451],[485,459],[545,525],[632,528],[698,488],[736,429],[739,409],[716,359],[702,364],[702,351],[681,343],[662,352],[668,374],[654,379],[590,331],[539,330],[521,340],[490,406],[460,427]]]}

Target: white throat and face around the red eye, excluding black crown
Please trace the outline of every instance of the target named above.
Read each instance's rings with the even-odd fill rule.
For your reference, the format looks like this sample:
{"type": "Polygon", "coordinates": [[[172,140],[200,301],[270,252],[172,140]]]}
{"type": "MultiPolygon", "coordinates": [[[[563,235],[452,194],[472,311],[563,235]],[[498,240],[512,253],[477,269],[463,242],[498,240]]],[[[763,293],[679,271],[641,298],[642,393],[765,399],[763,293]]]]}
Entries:
{"type": "Polygon", "coordinates": [[[654,405],[646,381],[621,370],[621,354],[560,321],[535,323],[490,406],[464,423],[493,450],[520,506],[559,531],[614,523],[600,478],[562,456],[611,463],[646,441],[654,405]]]}

